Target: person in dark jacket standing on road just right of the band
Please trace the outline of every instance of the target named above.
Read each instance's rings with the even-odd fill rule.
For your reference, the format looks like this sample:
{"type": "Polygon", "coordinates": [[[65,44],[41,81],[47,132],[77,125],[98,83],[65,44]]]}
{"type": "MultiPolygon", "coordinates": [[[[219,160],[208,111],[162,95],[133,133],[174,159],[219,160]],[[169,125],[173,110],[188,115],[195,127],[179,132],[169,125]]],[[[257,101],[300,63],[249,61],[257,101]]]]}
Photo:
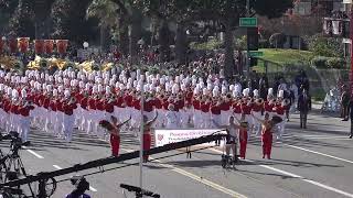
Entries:
{"type": "Polygon", "coordinates": [[[311,97],[302,89],[298,99],[298,111],[300,112],[300,128],[307,129],[308,112],[311,110],[311,97]]]}

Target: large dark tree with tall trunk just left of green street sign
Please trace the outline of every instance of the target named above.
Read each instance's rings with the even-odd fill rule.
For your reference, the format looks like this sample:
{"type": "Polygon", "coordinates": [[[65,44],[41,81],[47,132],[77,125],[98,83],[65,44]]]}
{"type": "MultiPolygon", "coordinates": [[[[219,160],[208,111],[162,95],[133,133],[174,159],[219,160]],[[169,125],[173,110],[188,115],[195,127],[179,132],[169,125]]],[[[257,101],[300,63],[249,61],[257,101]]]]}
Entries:
{"type": "MultiPolygon", "coordinates": [[[[246,0],[199,0],[193,3],[195,18],[217,20],[225,30],[225,74],[231,78],[234,74],[233,29],[238,25],[239,18],[246,16],[246,0]]],[[[292,7],[292,0],[253,0],[250,14],[266,15],[270,19],[281,16],[292,7]]]]}

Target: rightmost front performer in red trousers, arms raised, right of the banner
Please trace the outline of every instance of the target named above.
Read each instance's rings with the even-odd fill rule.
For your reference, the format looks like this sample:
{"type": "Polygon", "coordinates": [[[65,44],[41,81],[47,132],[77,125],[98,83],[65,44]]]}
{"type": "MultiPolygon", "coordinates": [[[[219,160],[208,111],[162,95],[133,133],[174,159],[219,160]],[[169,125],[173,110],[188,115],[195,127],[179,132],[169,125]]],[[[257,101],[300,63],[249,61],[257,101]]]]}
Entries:
{"type": "MultiPolygon", "coordinates": [[[[253,114],[254,117],[254,114],[253,114]]],[[[263,158],[266,157],[271,158],[271,150],[272,150],[272,128],[275,123],[269,119],[269,114],[265,113],[265,120],[260,120],[254,117],[257,121],[261,123],[261,141],[263,141],[263,158]]]]}

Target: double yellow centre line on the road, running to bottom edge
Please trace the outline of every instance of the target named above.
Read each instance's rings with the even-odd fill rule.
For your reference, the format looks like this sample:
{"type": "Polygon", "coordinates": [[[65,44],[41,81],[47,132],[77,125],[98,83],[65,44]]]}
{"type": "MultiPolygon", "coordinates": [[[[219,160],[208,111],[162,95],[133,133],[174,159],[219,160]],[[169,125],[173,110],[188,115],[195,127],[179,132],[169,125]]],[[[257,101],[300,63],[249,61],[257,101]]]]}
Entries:
{"type": "MultiPolygon", "coordinates": [[[[126,148],[122,148],[122,150],[125,150],[125,151],[127,151],[127,152],[132,152],[132,150],[126,150],[126,148]]],[[[175,166],[173,166],[173,165],[163,163],[162,161],[159,161],[159,160],[156,160],[156,158],[152,158],[152,157],[150,157],[150,158],[151,158],[153,162],[157,162],[160,166],[163,166],[163,167],[165,167],[165,168],[170,168],[171,170],[173,170],[173,172],[175,172],[175,173],[179,173],[180,175],[183,175],[183,176],[185,176],[185,177],[189,177],[189,178],[191,178],[191,179],[194,179],[194,180],[196,180],[196,182],[199,182],[199,183],[202,183],[202,184],[204,184],[204,185],[206,185],[206,186],[210,186],[210,187],[212,187],[212,188],[214,188],[214,189],[216,189],[216,190],[218,190],[218,191],[222,191],[222,193],[224,193],[224,194],[227,194],[227,195],[229,195],[229,196],[232,196],[232,197],[247,198],[246,196],[244,196],[244,195],[242,195],[242,194],[239,194],[239,193],[236,193],[236,191],[234,191],[234,190],[232,190],[232,189],[228,189],[228,188],[226,188],[226,187],[224,187],[224,186],[221,186],[221,185],[218,185],[218,184],[216,184],[216,183],[213,183],[213,182],[211,182],[211,180],[208,180],[208,179],[205,179],[205,178],[203,178],[203,177],[201,177],[201,176],[197,176],[197,175],[192,174],[192,173],[190,173],[190,172],[186,172],[186,170],[184,170],[184,169],[178,168],[178,167],[175,167],[175,166]]]]}

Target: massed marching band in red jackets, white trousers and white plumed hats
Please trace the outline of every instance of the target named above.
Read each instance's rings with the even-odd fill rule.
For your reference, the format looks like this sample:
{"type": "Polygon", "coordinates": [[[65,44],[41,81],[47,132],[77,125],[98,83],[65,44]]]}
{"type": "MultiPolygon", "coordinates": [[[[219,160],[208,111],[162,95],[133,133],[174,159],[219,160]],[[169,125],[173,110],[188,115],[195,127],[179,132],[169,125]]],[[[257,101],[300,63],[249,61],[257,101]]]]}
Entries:
{"type": "MultiPolygon", "coordinates": [[[[23,141],[28,141],[32,125],[71,142],[74,128],[106,138],[108,133],[99,121],[111,116],[119,123],[131,117],[125,125],[130,131],[137,131],[141,122],[153,120],[156,114],[159,116],[153,128],[165,129],[218,128],[228,125],[234,117],[248,124],[248,130],[242,133],[244,147],[250,133],[261,131],[261,122],[254,117],[263,118],[265,113],[282,118],[277,124],[277,138],[281,138],[291,103],[285,91],[279,89],[275,94],[269,88],[267,98],[263,99],[258,90],[242,90],[239,84],[228,84],[217,75],[202,79],[183,74],[174,77],[141,74],[139,69],[118,74],[116,69],[84,73],[68,68],[54,75],[26,70],[19,76],[1,70],[0,128],[6,132],[19,131],[23,141]]],[[[149,133],[147,130],[146,134],[149,133]]],[[[146,135],[146,139],[150,138],[146,135]]],[[[245,148],[242,151],[245,157],[245,148]]]]}

